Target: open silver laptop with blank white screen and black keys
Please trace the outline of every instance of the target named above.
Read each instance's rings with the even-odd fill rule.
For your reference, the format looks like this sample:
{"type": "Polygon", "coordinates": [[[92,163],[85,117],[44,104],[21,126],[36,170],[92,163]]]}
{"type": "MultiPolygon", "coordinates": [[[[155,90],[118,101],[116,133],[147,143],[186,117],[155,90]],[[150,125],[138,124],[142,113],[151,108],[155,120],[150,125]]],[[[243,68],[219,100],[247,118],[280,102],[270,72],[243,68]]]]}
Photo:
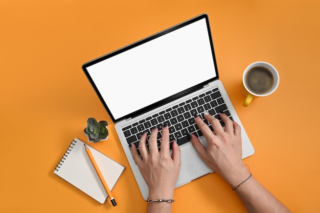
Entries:
{"type": "Polygon", "coordinates": [[[181,168],[176,187],[213,172],[186,136],[186,132],[193,133],[207,146],[194,115],[203,119],[203,112],[207,111],[224,126],[218,114],[224,112],[241,126],[242,158],[255,152],[219,80],[207,14],[89,61],[82,68],[115,123],[144,199],[148,197],[148,186],[129,144],[138,147],[142,133],[150,135],[152,127],[159,130],[158,149],[164,123],[169,126],[171,146],[178,138],[181,168]]]}

